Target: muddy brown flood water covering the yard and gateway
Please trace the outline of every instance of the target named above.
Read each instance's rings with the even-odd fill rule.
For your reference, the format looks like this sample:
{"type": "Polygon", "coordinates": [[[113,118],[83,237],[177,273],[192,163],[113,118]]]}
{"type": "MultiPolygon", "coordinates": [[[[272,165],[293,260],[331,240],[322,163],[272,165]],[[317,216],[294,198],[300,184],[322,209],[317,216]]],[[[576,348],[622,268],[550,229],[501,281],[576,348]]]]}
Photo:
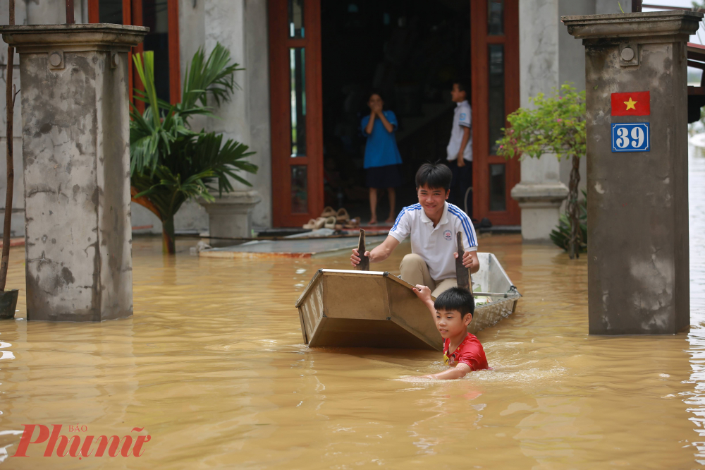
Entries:
{"type": "MultiPolygon", "coordinates": [[[[0,323],[0,466],[704,468],[705,155],[690,159],[689,333],[590,337],[584,257],[484,237],[481,250],[524,294],[479,333],[494,370],[409,381],[442,370],[441,354],[302,344],[295,300],[315,270],[345,269],[347,255],[197,258],[195,242],[180,241],[182,253],[164,258],[159,239],[135,239],[133,318],[0,323]],[[81,436],[138,427],[152,440],[142,457],[79,462],[41,457],[44,445],[8,457],[27,423],[85,425],[81,436]]],[[[380,270],[398,272],[409,250],[380,270]]],[[[8,287],[23,285],[13,249],[8,287]]]]}

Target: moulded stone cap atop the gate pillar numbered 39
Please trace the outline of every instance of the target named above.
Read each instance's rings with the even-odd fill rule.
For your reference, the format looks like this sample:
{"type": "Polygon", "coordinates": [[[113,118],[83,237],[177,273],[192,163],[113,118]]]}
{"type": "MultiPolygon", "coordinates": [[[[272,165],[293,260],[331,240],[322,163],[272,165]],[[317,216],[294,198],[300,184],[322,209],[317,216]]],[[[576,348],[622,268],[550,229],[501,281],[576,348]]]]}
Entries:
{"type": "Polygon", "coordinates": [[[649,42],[671,42],[674,39],[687,41],[698,30],[703,16],[696,11],[654,11],[561,16],[560,20],[568,26],[570,35],[582,40],[642,37],[649,42]]]}

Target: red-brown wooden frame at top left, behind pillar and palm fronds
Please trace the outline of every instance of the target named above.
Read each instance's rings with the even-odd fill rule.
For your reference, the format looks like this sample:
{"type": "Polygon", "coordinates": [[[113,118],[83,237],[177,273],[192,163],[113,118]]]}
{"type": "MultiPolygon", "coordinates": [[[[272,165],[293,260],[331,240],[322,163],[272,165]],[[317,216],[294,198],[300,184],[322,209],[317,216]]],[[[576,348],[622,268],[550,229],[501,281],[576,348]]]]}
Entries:
{"type": "MultiPolygon", "coordinates": [[[[122,0],[123,1],[123,25],[142,26],[142,0],[122,0]]],[[[180,44],[178,31],[178,0],[167,0],[168,14],[168,51],[169,51],[169,101],[176,104],[181,101],[181,64],[180,64],[180,44]]],[[[99,0],[88,0],[88,23],[98,23],[100,21],[99,0]]],[[[140,42],[133,47],[133,52],[140,54],[145,52],[145,45],[140,42]]],[[[128,73],[130,101],[133,101],[133,88],[144,90],[140,78],[133,70],[132,54],[128,52],[128,73]]],[[[135,106],[140,112],[145,110],[145,103],[138,101],[135,106]]]]}

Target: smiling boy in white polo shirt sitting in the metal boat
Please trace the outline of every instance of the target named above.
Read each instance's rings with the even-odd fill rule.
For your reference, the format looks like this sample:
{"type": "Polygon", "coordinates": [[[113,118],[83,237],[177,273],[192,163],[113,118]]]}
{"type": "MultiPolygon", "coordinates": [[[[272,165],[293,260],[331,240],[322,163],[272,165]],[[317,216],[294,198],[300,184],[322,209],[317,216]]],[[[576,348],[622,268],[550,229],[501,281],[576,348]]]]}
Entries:
{"type": "MultiPolygon", "coordinates": [[[[420,284],[431,289],[431,295],[458,285],[455,279],[456,251],[455,234],[462,234],[465,254],[462,265],[474,273],[479,270],[477,260],[477,236],[470,217],[459,207],[446,200],[450,195],[453,174],[441,163],[424,163],[416,173],[416,193],[419,203],[404,207],[381,245],[364,255],[370,263],[379,263],[389,258],[394,248],[411,236],[411,253],[401,261],[401,278],[413,286],[420,284]]],[[[350,256],[353,266],[360,264],[357,249],[350,256]]]]}

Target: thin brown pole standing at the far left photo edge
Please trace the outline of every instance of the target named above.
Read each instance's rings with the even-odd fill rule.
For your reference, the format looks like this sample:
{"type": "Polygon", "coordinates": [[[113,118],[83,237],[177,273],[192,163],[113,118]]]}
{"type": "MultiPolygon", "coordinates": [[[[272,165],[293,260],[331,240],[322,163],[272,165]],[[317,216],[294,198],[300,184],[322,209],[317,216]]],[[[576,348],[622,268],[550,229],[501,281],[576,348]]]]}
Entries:
{"type": "MultiPolygon", "coordinates": [[[[10,25],[15,25],[15,0],[10,0],[10,25]]],[[[10,261],[10,224],[12,220],[12,192],[15,186],[15,169],[12,155],[12,121],[15,104],[15,93],[12,86],[12,69],[15,60],[15,48],[7,48],[7,73],[5,74],[5,100],[6,100],[6,162],[7,162],[7,191],[5,195],[5,219],[2,231],[2,261],[0,263],[0,291],[5,290],[7,281],[7,266],[10,261]]]]}

